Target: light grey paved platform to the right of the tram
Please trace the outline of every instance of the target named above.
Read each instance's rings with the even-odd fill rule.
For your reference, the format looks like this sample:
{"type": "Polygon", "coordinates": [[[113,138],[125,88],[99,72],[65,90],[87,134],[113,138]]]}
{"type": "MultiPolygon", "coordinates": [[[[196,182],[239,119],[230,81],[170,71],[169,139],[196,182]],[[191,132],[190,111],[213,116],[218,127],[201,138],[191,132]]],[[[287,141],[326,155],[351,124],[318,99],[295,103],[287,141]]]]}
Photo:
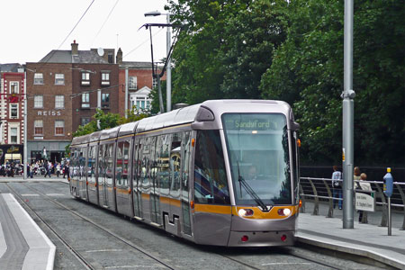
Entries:
{"type": "Polygon", "coordinates": [[[297,240],[356,256],[369,257],[383,264],[405,269],[405,230],[361,224],[343,229],[341,218],[300,213],[297,240]]]}

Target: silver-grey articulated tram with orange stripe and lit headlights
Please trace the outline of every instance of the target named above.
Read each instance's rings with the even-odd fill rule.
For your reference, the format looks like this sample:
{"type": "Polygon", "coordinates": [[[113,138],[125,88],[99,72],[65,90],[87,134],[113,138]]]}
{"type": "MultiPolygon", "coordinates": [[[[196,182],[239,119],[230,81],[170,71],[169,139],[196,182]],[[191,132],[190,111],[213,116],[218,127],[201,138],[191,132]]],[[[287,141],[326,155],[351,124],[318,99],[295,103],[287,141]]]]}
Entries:
{"type": "Polygon", "coordinates": [[[73,139],[76,198],[197,244],[289,246],[299,209],[289,104],[212,100],[73,139]]]}

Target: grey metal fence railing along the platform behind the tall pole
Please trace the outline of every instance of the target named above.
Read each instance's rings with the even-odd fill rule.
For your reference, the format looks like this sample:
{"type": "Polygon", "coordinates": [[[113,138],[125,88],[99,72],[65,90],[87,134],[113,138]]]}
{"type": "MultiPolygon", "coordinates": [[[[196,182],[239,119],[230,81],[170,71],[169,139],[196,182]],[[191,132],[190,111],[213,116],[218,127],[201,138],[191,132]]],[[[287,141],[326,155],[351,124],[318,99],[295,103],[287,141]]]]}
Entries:
{"type": "MultiPolygon", "coordinates": [[[[301,212],[305,212],[305,202],[314,202],[313,215],[318,215],[320,211],[320,202],[329,203],[327,216],[333,217],[333,201],[343,200],[341,198],[333,197],[332,179],[329,178],[300,178],[300,195],[302,199],[301,212]]],[[[337,181],[337,180],[334,180],[337,181]]],[[[342,181],[342,180],[338,180],[342,181]]],[[[354,188],[356,190],[356,183],[368,183],[376,193],[376,205],[378,211],[382,211],[382,218],[380,226],[386,227],[388,223],[388,203],[387,198],[383,193],[383,181],[358,181],[355,180],[354,188]]],[[[340,183],[340,186],[343,184],[340,183]]],[[[391,197],[392,209],[403,212],[403,222],[401,229],[405,229],[405,183],[394,182],[393,193],[391,197]]],[[[367,223],[367,212],[363,215],[362,222],[367,223]]]]}

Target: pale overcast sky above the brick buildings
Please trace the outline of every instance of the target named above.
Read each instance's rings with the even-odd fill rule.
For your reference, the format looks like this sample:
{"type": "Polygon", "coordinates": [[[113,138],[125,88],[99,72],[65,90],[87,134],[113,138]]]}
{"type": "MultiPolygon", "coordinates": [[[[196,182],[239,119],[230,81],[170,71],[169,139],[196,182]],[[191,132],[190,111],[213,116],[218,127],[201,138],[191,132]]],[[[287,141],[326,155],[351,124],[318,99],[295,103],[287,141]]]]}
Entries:
{"type": "MultiPolygon", "coordinates": [[[[165,4],[166,0],[2,1],[0,63],[38,62],[59,46],[70,49],[73,40],[79,44],[78,49],[112,48],[116,53],[118,47],[124,61],[150,61],[149,31],[139,27],[144,23],[166,23],[165,15],[144,16],[156,10],[165,13],[165,4]]],[[[166,29],[155,28],[152,34],[154,59],[164,58],[166,29]]]]}

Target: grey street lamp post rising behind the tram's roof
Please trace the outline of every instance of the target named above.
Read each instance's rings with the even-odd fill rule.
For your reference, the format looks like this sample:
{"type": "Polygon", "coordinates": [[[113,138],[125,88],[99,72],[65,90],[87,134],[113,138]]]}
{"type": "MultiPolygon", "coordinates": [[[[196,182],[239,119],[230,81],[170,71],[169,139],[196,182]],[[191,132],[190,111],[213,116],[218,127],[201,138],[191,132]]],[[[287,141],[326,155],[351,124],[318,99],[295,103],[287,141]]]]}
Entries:
{"type": "MultiPolygon", "coordinates": [[[[149,12],[145,14],[145,17],[148,16],[160,16],[166,15],[166,22],[170,24],[170,14],[162,14],[158,11],[149,12]]],[[[172,110],[172,67],[170,59],[170,47],[171,47],[171,31],[170,27],[167,26],[166,31],[166,54],[167,54],[167,67],[166,67],[166,112],[172,110]]]]}

